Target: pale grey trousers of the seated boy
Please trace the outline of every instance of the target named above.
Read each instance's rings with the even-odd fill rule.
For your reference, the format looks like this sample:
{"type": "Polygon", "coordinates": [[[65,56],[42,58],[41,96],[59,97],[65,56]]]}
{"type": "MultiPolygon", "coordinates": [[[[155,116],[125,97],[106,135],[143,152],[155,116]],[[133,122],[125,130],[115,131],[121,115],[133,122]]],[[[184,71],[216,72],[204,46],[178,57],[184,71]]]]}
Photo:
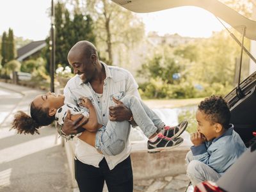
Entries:
{"type": "Polygon", "coordinates": [[[186,155],[186,164],[187,164],[187,176],[191,180],[193,186],[196,186],[199,182],[205,180],[211,180],[216,182],[221,175],[215,172],[210,166],[205,163],[202,163],[198,160],[192,160],[192,152],[189,151],[186,155]]]}

